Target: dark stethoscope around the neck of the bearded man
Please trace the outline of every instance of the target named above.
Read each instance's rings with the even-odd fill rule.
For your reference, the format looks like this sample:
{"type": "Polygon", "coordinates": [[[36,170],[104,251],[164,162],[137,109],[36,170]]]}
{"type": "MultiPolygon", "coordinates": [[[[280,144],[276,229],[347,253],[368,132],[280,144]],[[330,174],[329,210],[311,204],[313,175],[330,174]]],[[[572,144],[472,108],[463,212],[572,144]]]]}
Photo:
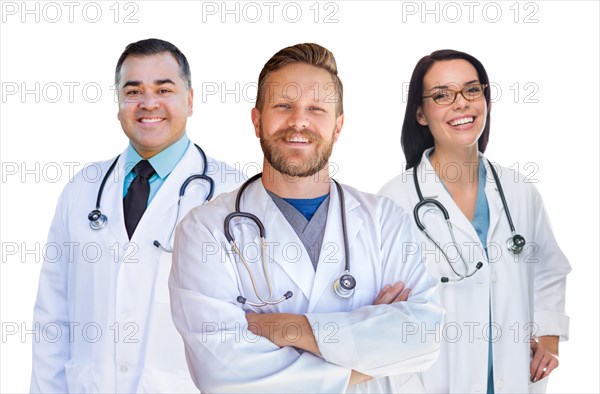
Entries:
{"type": "MultiPolygon", "coordinates": [[[[256,217],[255,215],[253,215],[249,212],[242,212],[240,209],[240,201],[242,199],[242,194],[244,193],[244,190],[246,190],[246,188],[250,184],[252,184],[254,181],[256,181],[257,179],[260,179],[261,176],[262,176],[262,173],[258,173],[256,175],[254,175],[252,178],[248,179],[242,185],[242,187],[240,188],[240,190],[237,194],[237,197],[235,199],[235,212],[232,212],[229,215],[227,215],[227,217],[225,218],[225,222],[224,222],[225,238],[227,238],[227,241],[233,248],[233,251],[239,257],[240,261],[244,264],[244,267],[246,268],[246,271],[248,272],[248,275],[250,276],[250,281],[252,282],[252,287],[254,288],[254,294],[256,294],[256,297],[260,301],[260,302],[250,302],[250,301],[248,301],[247,298],[240,295],[237,297],[237,302],[239,302],[240,304],[247,304],[247,305],[250,305],[253,307],[277,305],[277,304],[291,298],[294,295],[294,293],[292,293],[291,291],[287,291],[280,298],[273,300],[273,289],[271,287],[271,280],[269,279],[269,273],[267,272],[267,263],[266,263],[266,259],[265,259],[265,241],[266,241],[265,226],[263,225],[263,223],[260,221],[260,219],[258,217],[256,217]],[[258,232],[259,232],[260,240],[261,240],[262,271],[265,276],[265,281],[267,283],[267,289],[269,291],[269,295],[267,297],[263,297],[260,294],[260,292],[258,291],[258,287],[256,285],[256,280],[254,279],[254,275],[252,275],[252,271],[250,271],[250,266],[248,265],[248,262],[246,262],[246,259],[240,252],[238,246],[235,244],[235,239],[231,235],[229,226],[231,223],[231,219],[233,219],[235,217],[250,219],[258,227],[258,232]]],[[[342,208],[342,215],[341,215],[342,216],[342,231],[344,233],[343,234],[344,235],[344,253],[346,256],[346,266],[344,268],[344,273],[333,283],[333,291],[335,292],[335,294],[338,297],[347,299],[347,298],[352,297],[352,295],[354,294],[354,288],[356,287],[356,279],[354,279],[354,277],[352,275],[350,275],[350,252],[349,252],[349,248],[348,248],[348,232],[346,230],[346,205],[344,202],[344,191],[342,190],[342,187],[335,179],[332,179],[332,181],[335,183],[335,186],[337,187],[338,194],[340,197],[340,205],[342,208]]]]}

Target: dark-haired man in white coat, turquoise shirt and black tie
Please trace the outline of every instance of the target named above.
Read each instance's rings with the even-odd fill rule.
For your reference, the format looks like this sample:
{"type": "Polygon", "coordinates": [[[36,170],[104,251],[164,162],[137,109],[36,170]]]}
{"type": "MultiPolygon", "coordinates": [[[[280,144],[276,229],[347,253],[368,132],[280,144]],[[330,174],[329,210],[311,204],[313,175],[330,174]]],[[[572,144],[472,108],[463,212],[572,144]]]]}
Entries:
{"type": "Polygon", "coordinates": [[[48,243],[60,253],[42,266],[31,392],[197,392],[170,317],[173,233],[243,177],[187,137],[191,73],[173,44],[128,45],[115,85],[130,143],[75,175],[58,202],[48,243]]]}

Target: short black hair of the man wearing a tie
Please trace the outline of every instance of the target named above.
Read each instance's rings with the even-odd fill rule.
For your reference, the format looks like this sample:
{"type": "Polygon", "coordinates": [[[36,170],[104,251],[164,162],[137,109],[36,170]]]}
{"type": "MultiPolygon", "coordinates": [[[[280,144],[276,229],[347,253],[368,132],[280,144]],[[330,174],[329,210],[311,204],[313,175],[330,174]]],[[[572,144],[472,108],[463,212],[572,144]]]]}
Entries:
{"type": "Polygon", "coordinates": [[[175,60],[177,60],[181,79],[185,81],[186,88],[188,90],[191,89],[192,72],[190,71],[190,65],[187,62],[185,55],[175,45],[168,41],[159,40],[158,38],[148,38],[146,40],[133,42],[125,47],[115,69],[115,86],[119,85],[121,79],[121,66],[123,66],[123,62],[128,56],[151,56],[163,52],[169,52],[173,55],[175,60]]]}

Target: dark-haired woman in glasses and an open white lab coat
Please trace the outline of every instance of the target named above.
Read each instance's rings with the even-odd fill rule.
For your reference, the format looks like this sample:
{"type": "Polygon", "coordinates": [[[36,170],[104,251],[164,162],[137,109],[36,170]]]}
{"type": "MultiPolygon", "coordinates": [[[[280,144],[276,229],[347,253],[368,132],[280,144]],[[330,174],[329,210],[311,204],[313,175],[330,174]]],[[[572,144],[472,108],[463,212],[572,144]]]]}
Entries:
{"type": "Polygon", "coordinates": [[[402,126],[406,172],[380,191],[413,213],[428,272],[446,309],[428,392],[545,392],[558,366],[570,265],[541,197],[519,173],[484,156],[490,89],[473,56],[440,50],[410,81],[402,126]]]}

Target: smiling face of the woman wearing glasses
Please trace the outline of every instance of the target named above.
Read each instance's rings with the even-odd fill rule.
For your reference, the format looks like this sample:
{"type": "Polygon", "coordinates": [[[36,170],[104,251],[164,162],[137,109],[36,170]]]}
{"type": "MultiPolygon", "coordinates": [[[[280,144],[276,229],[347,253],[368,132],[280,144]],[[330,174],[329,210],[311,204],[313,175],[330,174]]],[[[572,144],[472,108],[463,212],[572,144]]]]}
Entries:
{"type": "MultiPolygon", "coordinates": [[[[423,95],[444,94],[444,89],[458,91],[465,86],[479,83],[477,70],[466,60],[438,61],[423,78],[423,95]]],[[[429,127],[436,150],[477,150],[477,141],[485,127],[487,111],[484,95],[474,101],[468,101],[459,93],[456,101],[447,106],[435,103],[430,97],[423,99],[417,110],[417,122],[429,127]]]]}

